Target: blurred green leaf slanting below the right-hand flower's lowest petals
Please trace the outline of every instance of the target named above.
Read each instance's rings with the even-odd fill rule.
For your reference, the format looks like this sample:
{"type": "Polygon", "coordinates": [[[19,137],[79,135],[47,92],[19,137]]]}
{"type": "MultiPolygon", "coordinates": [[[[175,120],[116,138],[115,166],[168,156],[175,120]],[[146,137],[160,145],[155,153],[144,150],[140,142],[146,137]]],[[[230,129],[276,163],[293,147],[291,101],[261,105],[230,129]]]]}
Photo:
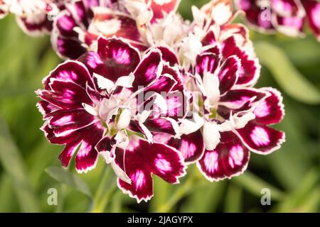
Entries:
{"type": "Polygon", "coordinates": [[[231,182],[235,182],[236,184],[247,189],[248,192],[251,192],[255,196],[261,196],[261,189],[268,188],[272,193],[272,199],[281,200],[283,199],[283,192],[281,192],[276,187],[273,187],[271,184],[265,182],[263,179],[253,175],[251,172],[246,171],[242,175],[238,177],[234,177],[231,179],[231,182]]]}

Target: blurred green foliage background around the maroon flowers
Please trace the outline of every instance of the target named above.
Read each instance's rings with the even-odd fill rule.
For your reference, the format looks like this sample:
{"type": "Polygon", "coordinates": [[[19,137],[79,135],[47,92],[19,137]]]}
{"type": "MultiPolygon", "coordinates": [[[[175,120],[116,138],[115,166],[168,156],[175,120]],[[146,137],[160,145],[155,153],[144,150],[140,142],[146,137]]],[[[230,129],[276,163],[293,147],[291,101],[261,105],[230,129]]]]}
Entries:
{"type": "MultiPolygon", "coordinates": [[[[183,0],[181,14],[191,19],[190,6],[204,2],[183,0]]],[[[74,165],[62,170],[63,147],[38,129],[43,121],[34,94],[61,60],[49,37],[28,37],[14,16],[1,20],[0,211],[319,212],[320,43],[309,32],[304,39],[250,33],[262,63],[256,87],[282,92],[286,115],[276,128],[287,141],[271,155],[251,153],[245,174],[231,180],[210,183],[194,166],[181,184],[154,177],[154,198],[137,204],[115,187],[102,160],[87,174],[76,174],[74,165]],[[58,190],[58,206],[47,204],[50,188],[58,190]],[[262,188],[271,190],[270,206],[260,203],[262,188]]]]}

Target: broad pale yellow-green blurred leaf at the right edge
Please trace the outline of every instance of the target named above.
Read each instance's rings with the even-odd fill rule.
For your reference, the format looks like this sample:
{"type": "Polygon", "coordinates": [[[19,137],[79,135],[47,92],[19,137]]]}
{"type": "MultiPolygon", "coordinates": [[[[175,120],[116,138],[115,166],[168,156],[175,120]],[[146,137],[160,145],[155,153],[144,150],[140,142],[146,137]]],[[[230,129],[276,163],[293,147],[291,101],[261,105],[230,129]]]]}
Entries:
{"type": "Polygon", "coordinates": [[[260,41],[255,43],[255,51],[262,65],[272,72],[284,92],[303,103],[320,104],[319,89],[304,78],[283,50],[271,43],[260,41]]]}

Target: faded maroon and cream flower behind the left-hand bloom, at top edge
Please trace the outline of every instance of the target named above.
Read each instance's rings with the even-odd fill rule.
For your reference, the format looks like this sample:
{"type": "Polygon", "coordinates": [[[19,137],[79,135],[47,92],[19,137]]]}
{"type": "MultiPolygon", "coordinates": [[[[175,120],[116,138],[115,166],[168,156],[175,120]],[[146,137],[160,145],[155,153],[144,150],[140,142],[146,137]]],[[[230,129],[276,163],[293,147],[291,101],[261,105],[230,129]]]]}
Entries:
{"type": "MultiPolygon", "coordinates": [[[[124,38],[139,50],[146,50],[168,33],[164,23],[178,22],[176,16],[179,1],[77,1],[66,4],[53,23],[52,44],[60,57],[76,59],[86,50],[96,50],[97,38],[124,38]],[[168,19],[166,13],[169,13],[168,19]],[[158,24],[156,26],[156,24],[158,24]],[[153,26],[151,26],[151,24],[153,26]],[[75,51],[76,50],[76,51],[75,51]]],[[[180,26],[181,25],[181,26],[180,26]]],[[[181,34],[168,40],[171,45],[181,34]]]]}

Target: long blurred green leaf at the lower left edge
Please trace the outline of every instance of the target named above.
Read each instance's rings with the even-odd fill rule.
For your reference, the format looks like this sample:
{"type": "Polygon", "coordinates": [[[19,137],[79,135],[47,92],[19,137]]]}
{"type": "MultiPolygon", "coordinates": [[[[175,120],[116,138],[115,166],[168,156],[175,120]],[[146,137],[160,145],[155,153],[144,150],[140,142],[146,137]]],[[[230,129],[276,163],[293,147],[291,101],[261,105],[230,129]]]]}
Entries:
{"type": "Polygon", "coordinates": [[[14,141],[0,118],[0,161],[4,170],[14,180],[14,189],[18,197],[18,202],[23,212],[37,212],[38,202],[33,193],[33,189],[28,178],[23,159],[16,148],[14,141]]]}

